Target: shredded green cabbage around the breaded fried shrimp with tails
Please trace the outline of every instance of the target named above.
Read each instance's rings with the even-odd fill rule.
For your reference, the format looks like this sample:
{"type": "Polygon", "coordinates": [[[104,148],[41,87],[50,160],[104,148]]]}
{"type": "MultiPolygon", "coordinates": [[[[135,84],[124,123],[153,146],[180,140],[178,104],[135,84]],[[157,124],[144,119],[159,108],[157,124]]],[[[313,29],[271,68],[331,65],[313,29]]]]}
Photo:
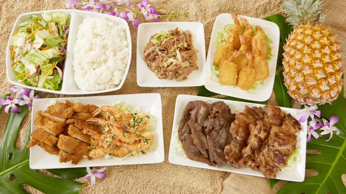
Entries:
{"type": "MultiPolygon", "coordinates": [[[[251,27],[254,29],[254,32],[256,33],[256,29],[254,25],[251,25],[251,27]]],[[[215,50],[218,50],[219,47],[221,45],[224,45],[227,43],[227,38],[228,38],[228,30],[233,28],[233,24],[226,24],[225,26],[223,26],[219,31],[217,31],[216,34],[216,39],[214,41],[214,45],[215,45],[215,50]]],[[[243,28],[245,29],[245,26],[243,25],[243,28]]],[[[271,56],[273,56],[272,54],[272,49],[273,47],[271,46],[271,43],[273,43],[272,39],[270,39],[266,33],[263,31],[266,39],[267,39],[267,43],[268,43],[268,61],[270,61],[272,58],[271,56]]],[[[210,79],[212,81],[216,81],[217,83],[219,82],[219,75],[220,75],[220,71],[219,71],[219,66],[215,65],[214,63],[211,66],[211,77],[210,79]]],[[[221,83],[220,83],[221,84],[221,83]]],[[[249,90],[255,90],[259,85],[263,85],[264,84],[264,80],[257,80],[255,81],[254,85],[249,89],[249,90]]],[[[221,84],[221,86],[223,86],[223,84],[221,84]]],[[[237,87],[237,86],[235,86],[237,87]]],[[[237,87],[238,88],[238,87],[237,87]]],[[[240,88],[238,88],[239,90],[242,90],[240,88]]],[[[246,90],[243,90],[245,92],[248,92],[246,90]]]]}

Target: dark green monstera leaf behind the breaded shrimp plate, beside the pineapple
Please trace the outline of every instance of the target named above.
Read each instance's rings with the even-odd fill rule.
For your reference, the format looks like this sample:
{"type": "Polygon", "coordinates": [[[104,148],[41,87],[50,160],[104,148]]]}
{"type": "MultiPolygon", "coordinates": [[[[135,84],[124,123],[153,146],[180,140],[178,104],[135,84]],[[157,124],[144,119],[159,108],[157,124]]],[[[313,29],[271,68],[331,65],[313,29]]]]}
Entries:
{"type": "MultiPolygon", "coordinates": [[[[276,72],[275,72],[275,80],[274,80],[274,93],[276,95],[276,101],[277,104],[281,107],[291,107],[291,97],[287,93],[287,88],[283,84],[283,65],[282,65],[282,59],[283,59],[283,45],[286,44],[286,38],[288,38],[289,33],[291,33],[291,27],[285,22],[285,17],[283,17],[281,14],[275,14],[269,17],[264,18],[264,20],[271,21],[277,24],[280,28],[280,45],[279,45],[279,55],[277,56],[277,64],[276,64],[276,72]]],[[[217,95],[216,93],[213,93],[209,90],[207,90],[204,86],[198,87],[198,96],[214,96],[217,95]]],[[[234,101],[243,101],[248,103],[257,103],[257,104],[267,104],[267,101],[264,102],[258,102],[258,101],[251,101],[251,100],[244,100],[240,98],[234,98],[234,97],[226,97],[222,99],[227,100],[234,100],[234,101]]]]}

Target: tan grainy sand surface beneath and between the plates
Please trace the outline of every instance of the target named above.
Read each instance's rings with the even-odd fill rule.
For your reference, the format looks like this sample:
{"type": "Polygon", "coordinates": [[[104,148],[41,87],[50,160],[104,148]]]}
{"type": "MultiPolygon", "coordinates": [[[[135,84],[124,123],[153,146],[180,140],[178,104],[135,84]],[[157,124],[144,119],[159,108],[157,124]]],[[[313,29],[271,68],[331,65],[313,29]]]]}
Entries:
{"type": "MultiPolygon", "coordinates": [[[[136,6],[140,0],[130,0],[131,9],[138,10],[136,6]]],[[[281,13],[279,5],[283,0],[151,0],[156,9],[188,11],[188,17],[170,18],[170,21],[197,21],[204,25],[206,37],[206,49],[210,42],[210,35],[213,23],[220,13],[238,13],[240,15],[264,18],[275,13],[281,13]]],[[[0,0],[0,94],[8,93],[8,88],[12,85],[8,83],[5,67],[5,51],[11,29],[17,17],[26,12],[64,9],[64,4],[60,0],[0,0]]],[[[145,22],[143,17],[138,16],[141,22],[145,22]]],[[[136,83],[136,38],[137,29],[130,25],[132,37],[132,60],[131,66],[124,86],[115,92],[102,95],[116,94],[134,94],[134,93],[160,93],[162,96],[163,108],[163,131],[165,145],[165,161],[160,164],[149,165],[126,165],[109,166],[106,170],[106,176],[102,180],[96,181],[91,186],[89,178],[84,180],[86,184],[82,187],[81,193],[220,193],[223,189],[222,182],[231,174],[227,172],[214,171],[209,169],[193,168],[186,166],[173,165],[168,162],[169,144],[171,138],[172,122],[174,115],[174,104],[176,96],[179,94],[197,94],[197,87],[180,88],[147,88],[139,87],[136,83]]],[[[208,52],[208,50],[206,50],[208,52]]],[[[54,95],[42,93],[45,97],[53,95],[56,97],[72,97],[69,95],[54,95]]],[[[95,96],[95,95],[94,95],[95,96]]],[[[75,97],[75,96],[74,96],[75,97]]],[[[271,104],[275,104],[274,95],[270,99],[271,104]]],[[[24,144],[24,138],[29,123],[30,114],[24,119],[22,129],[20,129],[17,147],[24,144]]],[[[8,115],[0,111],[0,137],[3,134],[8,115]]],[[[52,175],[45,170],[40,171],[43,174],[52,175]]],[[[232,174],[234,178],[238,175],[232,174]]],[[[242,180],[249,181],[249,176],[239,175],[242,180]]],[[[254,180],[254,179],[251,179],[254,180]]],[[[261,184],[264,193],[270,191],[264,178],[256,177],[258,184],[261,184]]],[[[29,193],[41,193],[36,189],[25,185],[29,193]]],[[[239,191],[235,189],[233,192],[239,191]]]]}

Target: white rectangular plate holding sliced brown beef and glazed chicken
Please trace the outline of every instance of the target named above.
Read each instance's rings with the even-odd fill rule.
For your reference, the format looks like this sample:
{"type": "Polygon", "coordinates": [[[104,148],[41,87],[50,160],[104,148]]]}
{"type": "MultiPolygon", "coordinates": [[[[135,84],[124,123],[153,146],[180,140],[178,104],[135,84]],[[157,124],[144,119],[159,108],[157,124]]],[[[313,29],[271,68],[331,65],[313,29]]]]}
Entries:
{"type": "MultiPolygon", "coordinates": [[[[207,168],[212,170],[218,170],[218,171],[226,171],[226,172],[232,172],[232,173],[239,173],[239,174],[247,174],[247,175],[253,175],[253,176],[261,176],[264,177],[264,175],[261,172],[253,171],[249,166],[247,168],[234,168],[229,163],[227,163],[226,166],[221,167],[212,167],[208,164],[192,161],[187,157],[181,157],[177,156],[173,150],[173,145],[175,144],[174,140],[174,133],[175,133],[175,126],[179,125],[180,117],[183,113],[183,110],[185,106],[190,102],[194,100],[210,100],[211,103],[214,103],[216,101],[224,101],[229,108],[231,109],[232,113],[237,113],[235,111],[236,108],[238,108],[240,111],[243,111],[245,108],[245,105],[249,107],[264,107],[265,105],[260,104],[253,104],[253,103],[244,103],[244,102],[238,102],[238,101],[232,101],[232,100],[223,100],[223,99],[217,99],[217,98],[208,98],[208,97],[201,97],[201,96],[191,96],[191,95],[179,95],[176,98],[175,102],[175,110],[174,110],[174,120],[173,120],[173,129],[172,129],[172,137],[171,137],[171,144],[170,144],[170,151],[168,160],[172,164],[178,164],[183,166],[192,166],[192,167],[198,167],[198,168],[207,168]]],[[[290,113],[294,118],[299,119],[296,115],[296,109],[293,108],[284,108],[280,107],[282,111],[285,113],[290,113]]],[[[305,161],[306,161],[306,134],[307,134],[307,121],[304,123],[301,123],[301,131],[297,134],[297,142],[300,144],[299,153],[301,155],[300,162],[295,163],[293,167],[293,174],[290,174],[288,171],[280,171],[276,173],[276,179],[279,180],[286,180],[286,181],[296,181],[296,182],[302,182],[304,181],[305,177],[305,161]]]]}

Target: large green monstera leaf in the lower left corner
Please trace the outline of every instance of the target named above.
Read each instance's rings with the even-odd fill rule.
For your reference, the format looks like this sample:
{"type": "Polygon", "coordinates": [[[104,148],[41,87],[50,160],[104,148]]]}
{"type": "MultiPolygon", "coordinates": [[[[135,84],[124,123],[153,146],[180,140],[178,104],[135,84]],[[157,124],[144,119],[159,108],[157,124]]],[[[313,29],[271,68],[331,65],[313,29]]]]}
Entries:
{"type": "MultiPolygon", "coordinates": [[[[3,98],[3,96],[1,97],[3,98]]],[[[6,96],[5,96],[6,98],[6,96]]],[[[16,139],[22,119],[28,112],[28,106],[18,106],[19,112],[10,115],[0,142],[0,193],[26,193],[23,184],[30,185],[44,193],[79,193],[84,183],[65,178],[56,178],[38,173],[29,167],[30,126],[26,135],[24,147],[16,149],[16,139]]],[[[1,107],[0,107],[1,108],[1,107]]],[[[79,178],[82,169],[58,169],[54,174],[70,178],[79,178]],[[70,172],[69,172],[70,171],[70,172]],[[68,173],[69,172],[69,173],[68,173]],[[73,175],[73,174],[76,175],[73,175]]]]}

